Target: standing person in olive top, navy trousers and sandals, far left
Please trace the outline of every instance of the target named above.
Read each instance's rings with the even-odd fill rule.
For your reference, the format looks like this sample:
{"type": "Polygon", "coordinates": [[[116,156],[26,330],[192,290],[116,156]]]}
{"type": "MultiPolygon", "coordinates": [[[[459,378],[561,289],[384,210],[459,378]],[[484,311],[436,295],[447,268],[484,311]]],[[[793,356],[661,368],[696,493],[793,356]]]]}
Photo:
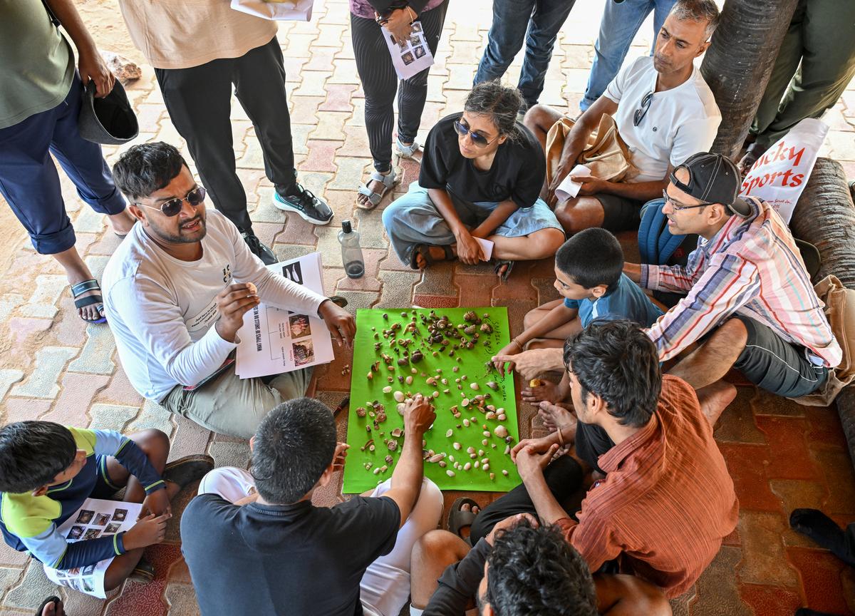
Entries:
{"type": "Polygon", "coordinates": [[[104,97],[115,78],[74,3],[47,4],[74,41],[79,71],[68,40],[51,23],[41,0],[0,0],[0,193],[36,252],[62,265],[80,318],[103,323],[101,287],[74,248],[74,228],[50,155],[80,198],[109,216],[115,234],[124,237],[134,218],[113,184],[101,146],[83,139],[77,128],[83,86],[91,80],[96,96],[104,97]]]}

